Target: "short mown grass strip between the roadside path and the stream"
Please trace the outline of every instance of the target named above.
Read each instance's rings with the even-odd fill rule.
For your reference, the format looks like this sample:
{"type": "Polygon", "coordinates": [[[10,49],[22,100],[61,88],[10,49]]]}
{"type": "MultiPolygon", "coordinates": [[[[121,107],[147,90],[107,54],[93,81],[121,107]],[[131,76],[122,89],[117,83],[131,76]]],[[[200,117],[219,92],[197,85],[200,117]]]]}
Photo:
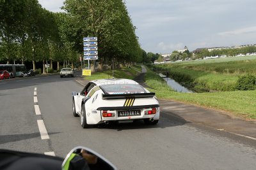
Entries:
{"type": "Polygon", "coordinates": [[[156,92],[160,99],[172,99],[184,103],[196,104],[207,108],[228,111],[244,118],[256,119],[256,90],[214,92],[214,93],[179,93],[171,90],[162,78],[150,69],[145,76],[148,90],[156,92]]]}

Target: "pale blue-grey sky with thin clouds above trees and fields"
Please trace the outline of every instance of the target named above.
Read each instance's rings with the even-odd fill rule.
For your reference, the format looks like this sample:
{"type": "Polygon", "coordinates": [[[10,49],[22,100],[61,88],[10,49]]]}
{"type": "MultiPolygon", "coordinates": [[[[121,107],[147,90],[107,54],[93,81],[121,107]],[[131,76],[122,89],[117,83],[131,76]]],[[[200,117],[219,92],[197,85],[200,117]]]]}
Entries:
{"type": "MultiPolygon", "coordinates": [[[[38,0],[61,11],[63,0],[38,0]]],[[[255,0],[125,0],[146,52],[256,44],[255,0]]]]}

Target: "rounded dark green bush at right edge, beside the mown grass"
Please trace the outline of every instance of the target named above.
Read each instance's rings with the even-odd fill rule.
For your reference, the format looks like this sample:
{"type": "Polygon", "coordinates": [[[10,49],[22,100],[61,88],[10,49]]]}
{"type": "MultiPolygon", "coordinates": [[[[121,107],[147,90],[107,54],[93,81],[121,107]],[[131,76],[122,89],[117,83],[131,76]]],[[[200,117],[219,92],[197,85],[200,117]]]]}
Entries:
{"type": "Polygon", "coordinates": [[[245,76],[240,76],[237,80],[236,89],[237,90],[254,90],[256,86],[256,76],[247,74],[245,76]]]}

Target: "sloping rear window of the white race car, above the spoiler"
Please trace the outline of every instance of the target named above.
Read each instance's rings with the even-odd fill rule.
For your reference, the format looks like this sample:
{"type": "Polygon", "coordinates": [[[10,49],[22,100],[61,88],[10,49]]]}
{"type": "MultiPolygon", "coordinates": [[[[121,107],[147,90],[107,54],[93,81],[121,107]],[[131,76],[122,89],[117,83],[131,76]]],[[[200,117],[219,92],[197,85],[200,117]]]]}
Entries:
{"type": "Polygon", "coordinates": [[[108,94],[137,94],[146,91],[138,84],[113,84],[100,86],[108,94]]]}

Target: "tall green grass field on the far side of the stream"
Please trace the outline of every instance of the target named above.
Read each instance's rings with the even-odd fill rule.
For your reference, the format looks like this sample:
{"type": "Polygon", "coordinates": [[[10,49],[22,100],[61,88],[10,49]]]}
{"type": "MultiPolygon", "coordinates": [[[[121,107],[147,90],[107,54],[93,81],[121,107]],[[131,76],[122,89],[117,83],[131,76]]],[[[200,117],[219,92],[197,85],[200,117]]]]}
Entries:
{"type": "Polygon", "coordinates": [[[154,65],[155,71],[170,71],[176,81],[196,92],[236,90],[239,76],[256,75],[256,56],[177,62],[154,65]]]}

